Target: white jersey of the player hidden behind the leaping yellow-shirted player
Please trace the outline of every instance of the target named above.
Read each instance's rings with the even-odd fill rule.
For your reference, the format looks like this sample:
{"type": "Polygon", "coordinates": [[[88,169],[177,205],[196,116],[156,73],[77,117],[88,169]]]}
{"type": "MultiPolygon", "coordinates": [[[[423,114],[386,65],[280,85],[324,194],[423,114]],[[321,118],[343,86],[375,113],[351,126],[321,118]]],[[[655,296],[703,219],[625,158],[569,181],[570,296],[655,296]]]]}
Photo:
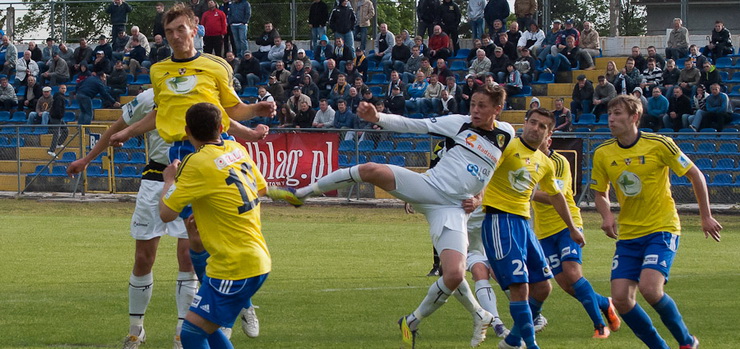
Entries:
{"type": "MultiPolygon", "coordinates": [[[[139,93],[134,100],[123,105],[123,122],[131,125],[146,116],[154,109],[154,89],[150,88],[139,93]]],[[[159,136],[157,130],[147,133],[149,137],[149,159],[163,165],[170,163],[169,149],[172,144],[167,143],[159,136]]]]}

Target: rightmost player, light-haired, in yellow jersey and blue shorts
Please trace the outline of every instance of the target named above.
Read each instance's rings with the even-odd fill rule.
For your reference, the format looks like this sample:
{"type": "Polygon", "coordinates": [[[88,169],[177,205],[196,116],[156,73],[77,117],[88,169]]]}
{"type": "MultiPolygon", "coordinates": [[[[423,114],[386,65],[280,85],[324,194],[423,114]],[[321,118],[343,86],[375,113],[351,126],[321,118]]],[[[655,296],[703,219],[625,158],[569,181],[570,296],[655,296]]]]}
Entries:
{"type": "Polygon", "coordinates": [[[611,293],[624,322],[650,348],[668,348],[650,317],[637,304],[637,290],[660,315],[681,349],[697,348],[673,299],[663,291],[678,250],[681,224],[671,197],[669,169],[687,176],[699,204],[704,236],[720,240],[722,226],[712,217],[704,175],[671,138],[640,132],[642,103],[632,96],[609,102],[609,129],[614,138],[596,148],[591,188],[601,229],[617,239],[612,261],[611,293]],[[609,186],[619,202],[619,220],[609,206],[609,186]],[[619,226],[617,226],[619,223],[619,226]]]}

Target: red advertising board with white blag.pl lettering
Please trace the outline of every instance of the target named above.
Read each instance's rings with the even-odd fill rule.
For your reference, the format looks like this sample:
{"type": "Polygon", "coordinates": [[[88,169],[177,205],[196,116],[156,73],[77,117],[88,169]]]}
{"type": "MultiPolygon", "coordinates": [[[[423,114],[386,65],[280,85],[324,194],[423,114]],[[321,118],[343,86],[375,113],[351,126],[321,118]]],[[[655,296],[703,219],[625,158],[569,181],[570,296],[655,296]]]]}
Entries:
{"type": "Polygon", "coordinates": [[[304,187],[339,168],[336,133],[272,133],[259,142],[238,141],[268,185],[304,187]]]}

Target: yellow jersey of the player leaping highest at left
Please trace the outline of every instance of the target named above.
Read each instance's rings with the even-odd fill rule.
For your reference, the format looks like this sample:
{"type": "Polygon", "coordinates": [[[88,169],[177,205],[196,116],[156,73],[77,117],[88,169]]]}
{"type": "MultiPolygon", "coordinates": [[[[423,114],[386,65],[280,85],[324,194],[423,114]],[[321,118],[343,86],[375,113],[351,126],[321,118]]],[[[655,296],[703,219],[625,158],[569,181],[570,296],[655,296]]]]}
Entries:
{"type": "Polygon", "coordinates": [[[224,132],[229,118],[224,108],[241,102],[234,91],[234,71],[221,57],[199,53],[186,60],[172,57],[152,65],[150,77],[157,109],[157,131],[167,143],[182,141],[185,112],[193,104],[208,102],[223,113],[224,132]]]}

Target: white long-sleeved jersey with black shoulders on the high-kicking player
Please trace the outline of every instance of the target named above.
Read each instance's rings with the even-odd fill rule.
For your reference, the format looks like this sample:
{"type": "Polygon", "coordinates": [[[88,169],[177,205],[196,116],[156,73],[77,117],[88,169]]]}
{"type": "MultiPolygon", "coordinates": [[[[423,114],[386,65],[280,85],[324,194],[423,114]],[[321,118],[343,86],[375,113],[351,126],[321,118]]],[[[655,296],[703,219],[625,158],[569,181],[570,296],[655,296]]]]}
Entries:
{"type": "Polygon", "coordinates": [[[483,191],[515,132],[500,121],[491,131],[475,128],[466,115],[418,120],[380,113],[379,118],[377,124],[386,130],[446,137],[444,157],[424,175],[432,186],[460,200],[483,191]]]}

